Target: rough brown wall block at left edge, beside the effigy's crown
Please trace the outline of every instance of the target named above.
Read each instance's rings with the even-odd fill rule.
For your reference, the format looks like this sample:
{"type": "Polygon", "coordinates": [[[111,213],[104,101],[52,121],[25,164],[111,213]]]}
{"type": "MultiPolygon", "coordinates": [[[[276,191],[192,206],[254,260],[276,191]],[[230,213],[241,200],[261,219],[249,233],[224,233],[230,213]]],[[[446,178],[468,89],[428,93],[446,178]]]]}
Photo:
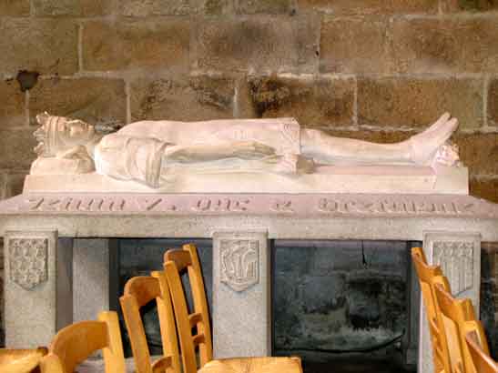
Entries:
{"type": "Polygon", "coordinates": [[[0,130],[0,168],[28,169],[36,158],[33,130],[0,130]]]}

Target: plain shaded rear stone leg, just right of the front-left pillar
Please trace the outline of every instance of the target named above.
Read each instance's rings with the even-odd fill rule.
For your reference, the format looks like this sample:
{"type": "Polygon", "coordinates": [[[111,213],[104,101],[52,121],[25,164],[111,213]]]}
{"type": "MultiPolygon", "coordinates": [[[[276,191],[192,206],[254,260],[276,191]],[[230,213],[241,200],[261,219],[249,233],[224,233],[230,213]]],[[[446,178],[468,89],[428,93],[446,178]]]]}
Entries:
{"type": "Polygon", "coordinates": [[[109,240],[76,238],[73,250],[73,319],[92,320],[109,309],[109,240]]]}

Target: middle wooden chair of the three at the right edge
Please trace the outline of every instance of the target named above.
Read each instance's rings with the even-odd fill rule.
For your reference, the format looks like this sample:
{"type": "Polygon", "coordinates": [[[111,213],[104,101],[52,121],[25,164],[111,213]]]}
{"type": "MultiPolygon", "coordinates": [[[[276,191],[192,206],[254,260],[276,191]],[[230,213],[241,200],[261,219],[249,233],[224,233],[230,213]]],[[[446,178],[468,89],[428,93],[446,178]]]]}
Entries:
{"type": "Polygon", "coordinates": [[[452,372],[481,373],[480,370],[474,368],[473,358],[466,343],[468,331],[480,331],[481,349],[485,355],[489,356],[489,348],[484,337],[483,327],[475,318],[472,301],[452,297],[449,286],[444,281],[435,285],[435,293],[448,341],[452,372]]]}

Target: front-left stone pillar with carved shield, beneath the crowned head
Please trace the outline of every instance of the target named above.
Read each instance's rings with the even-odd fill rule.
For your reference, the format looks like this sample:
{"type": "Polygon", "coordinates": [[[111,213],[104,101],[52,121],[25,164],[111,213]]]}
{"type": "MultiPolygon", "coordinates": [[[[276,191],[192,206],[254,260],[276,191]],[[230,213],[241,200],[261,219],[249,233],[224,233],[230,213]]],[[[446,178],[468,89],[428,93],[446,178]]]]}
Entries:
{"type": "Polygon", "coordinates": [[[71,254],[59,253],[57,232],[5,232],[5,345],[47,346],[57,328],[70,322],[58,296],[71,289],[71,254]],[[68,263],[67,263],[68,262],[68,263]],[[59,294],[60,293],[60,294],[59,294]]]}

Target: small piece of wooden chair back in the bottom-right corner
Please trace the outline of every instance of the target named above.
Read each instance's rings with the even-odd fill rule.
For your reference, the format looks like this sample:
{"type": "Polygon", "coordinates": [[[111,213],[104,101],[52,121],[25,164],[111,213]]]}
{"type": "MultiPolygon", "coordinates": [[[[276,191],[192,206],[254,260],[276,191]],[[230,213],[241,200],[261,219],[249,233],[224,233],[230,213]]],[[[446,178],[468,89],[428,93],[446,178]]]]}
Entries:
{"type": "Polygon", "coordinates": [[[473,368],[479,373],[498,373],[498,365],[485,351],[487,345],[483,326],[480,322],[466,326],[465,343],[473,361],[473,368]]]}

